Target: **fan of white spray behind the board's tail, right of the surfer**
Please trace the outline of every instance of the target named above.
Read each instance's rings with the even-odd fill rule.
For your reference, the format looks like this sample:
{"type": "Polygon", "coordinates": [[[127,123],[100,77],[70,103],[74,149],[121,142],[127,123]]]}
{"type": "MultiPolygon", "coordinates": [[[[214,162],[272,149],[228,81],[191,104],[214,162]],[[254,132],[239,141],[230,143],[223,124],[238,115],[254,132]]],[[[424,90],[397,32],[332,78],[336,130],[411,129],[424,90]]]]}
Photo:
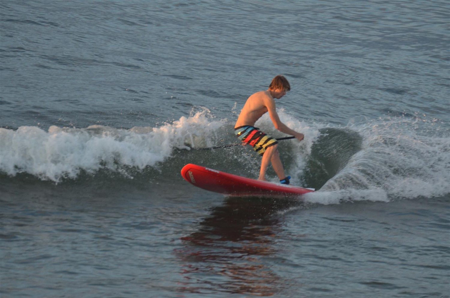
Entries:
{"type": "Polygon", "coordinates": [[[331,204],[448,194],[449,138],[436,133],[435,123],[394,117],[347,127],[362,136],[360,151],[306,201],[331,204]]]}

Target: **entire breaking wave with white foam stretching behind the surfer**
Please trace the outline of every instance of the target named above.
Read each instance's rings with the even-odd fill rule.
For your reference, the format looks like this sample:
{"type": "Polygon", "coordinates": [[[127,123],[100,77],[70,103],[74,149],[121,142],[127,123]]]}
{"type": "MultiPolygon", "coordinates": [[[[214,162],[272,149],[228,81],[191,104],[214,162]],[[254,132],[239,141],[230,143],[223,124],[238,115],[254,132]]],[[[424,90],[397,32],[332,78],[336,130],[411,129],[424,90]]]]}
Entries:
{"type": "MultiPolygon", "coordinates": [[[[332,127],[299,121],[283,110],[279,115],[305,134],[305,141],[286,140],[279,149],[293,184],[318,189],[305,196],[308,202],[389,201],[450,192],[446,125],[427,126],[417,117],[402,116],[332,127]]],[[[267,115],[257,126],[281,137],[267,115]]],[[[193,150],[236,143],[232,131],[230,121],[216,120],[206,108],[158,127],[2,128],[0,173],[61,183],[104,173],[126,179],[164,171],[178,175],[185,163],[197,163],[257,178],[260,158],[249,148],[193,150]]],[[[275,177],[271,170],[268,174],[275,177]]]]}

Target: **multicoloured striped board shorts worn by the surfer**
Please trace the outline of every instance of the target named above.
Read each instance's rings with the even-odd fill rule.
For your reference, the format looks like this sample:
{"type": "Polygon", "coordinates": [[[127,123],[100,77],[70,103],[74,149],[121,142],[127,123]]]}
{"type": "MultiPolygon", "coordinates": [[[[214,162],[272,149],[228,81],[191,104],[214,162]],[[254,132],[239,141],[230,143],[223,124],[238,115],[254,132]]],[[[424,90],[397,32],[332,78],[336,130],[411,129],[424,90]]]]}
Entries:
{"type": "Polygon", "coordinates": [[[244,143],[250,144],[253,150],[263,155],[270,146],[278,144],[275,138],[263,133],[257,127],[250,125],[239,126],[234,129],[234,134],[244,143]]]}

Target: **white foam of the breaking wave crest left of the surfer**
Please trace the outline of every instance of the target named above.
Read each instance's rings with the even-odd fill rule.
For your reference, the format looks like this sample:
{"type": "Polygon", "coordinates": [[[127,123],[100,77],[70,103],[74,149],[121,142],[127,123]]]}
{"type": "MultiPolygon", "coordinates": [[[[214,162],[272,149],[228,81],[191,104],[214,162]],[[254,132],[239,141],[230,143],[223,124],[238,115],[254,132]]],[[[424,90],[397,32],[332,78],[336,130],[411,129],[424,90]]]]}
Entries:
{"type": "Polygon", "coordinates": [[[76,178],[81,170],[120,171],[123,166],[144,169],[163,162],[173,148],[209,139],[221,121],[208,120],[208,111],[160,127],[115,129],[92,125],[85,129],[34,126],[0,129],[0,170],[8,175],[29,173],[43,180],[76,178]]]}

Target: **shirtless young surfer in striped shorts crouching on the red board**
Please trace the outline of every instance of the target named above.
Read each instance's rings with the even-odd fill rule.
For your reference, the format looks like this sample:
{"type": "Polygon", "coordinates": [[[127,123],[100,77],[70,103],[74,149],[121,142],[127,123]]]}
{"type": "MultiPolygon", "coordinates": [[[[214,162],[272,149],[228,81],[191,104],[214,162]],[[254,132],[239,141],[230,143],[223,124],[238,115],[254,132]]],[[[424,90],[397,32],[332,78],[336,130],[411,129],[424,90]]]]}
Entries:
{"type": "Polygon", "coordinates": [[[247,99],[234,125],[234,133],[243,142],[243,145],[250,144],[253,150],[262,156],[258,180],[266,180],[266,170],[269,162],[271,162],[280,182],[289,184],[290,177],[286,177],[284,174],[283,164],[281,163],[277,149],[277,140],[253,126],[262,115],[269,112],[275,129],[278,129],[282,133],[290,134],[299,141],[302,141],[305,136],[302,133],[288,128],[288,126],[281,122],[275,109],[275,98],[282,98],[289,90],[291,90],[291,86],[288,80],[284,76],[275,76],[269,85],[269,89],[254,93],[247,99]]]}

